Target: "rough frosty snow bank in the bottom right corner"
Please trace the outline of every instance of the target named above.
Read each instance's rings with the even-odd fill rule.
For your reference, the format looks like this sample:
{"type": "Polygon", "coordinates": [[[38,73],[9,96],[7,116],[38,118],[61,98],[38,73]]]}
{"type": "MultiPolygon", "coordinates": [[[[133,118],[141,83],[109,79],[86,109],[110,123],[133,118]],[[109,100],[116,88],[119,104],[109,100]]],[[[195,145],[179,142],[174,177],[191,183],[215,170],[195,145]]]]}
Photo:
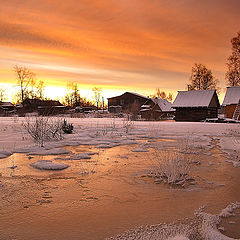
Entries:
{"type": "MultiPolygon", "coordinates": [[[[127,231],[111,240],[234,240],[223,235],[217,228],[222,217],[231,216],[233,210],[240,208],[240,203],[231,203],[219,215],[203,212],[202,208],[195,212],[193,219],[188,219],[185,224],[159,224],[140,227],[127,231]]],[[[186,221],[186,220],[185,220],[186,221]]]]}

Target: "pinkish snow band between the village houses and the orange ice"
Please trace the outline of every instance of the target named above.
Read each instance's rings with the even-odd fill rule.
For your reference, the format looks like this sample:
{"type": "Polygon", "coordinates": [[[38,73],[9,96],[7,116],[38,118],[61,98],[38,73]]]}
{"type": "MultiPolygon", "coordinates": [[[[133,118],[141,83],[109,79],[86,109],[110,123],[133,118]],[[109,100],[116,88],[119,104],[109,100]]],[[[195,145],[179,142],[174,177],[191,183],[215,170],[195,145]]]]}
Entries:
{"type": "MultiPolygon", "coordinates": [[[[225,152],[232,154],[234,151],[240,151],[238,124],[138,121],[131,122],[131,128],[126,131],[126,120],[120,118],[66,119],[74,125],[74,133],[64,135],[61,141],[46,142],[44,147],[38,147],[22,127],[24,118],[1,117],[0,158],[16,152],[33,155],[72,154],[63,147],[77,145],[99,148],[119,145],[135,145],[135,148],[154,147],[154,142],[148,142],[149,145],[144,146],[139,140],[158,138],[182,140],[182,144],[190,146],[191,149],[210,148],[210,142],[216,139],[225,152]]],[[[174,145],[174,141],[164,141],[158,143],[158,148],[171,148],[174,145]]]]}

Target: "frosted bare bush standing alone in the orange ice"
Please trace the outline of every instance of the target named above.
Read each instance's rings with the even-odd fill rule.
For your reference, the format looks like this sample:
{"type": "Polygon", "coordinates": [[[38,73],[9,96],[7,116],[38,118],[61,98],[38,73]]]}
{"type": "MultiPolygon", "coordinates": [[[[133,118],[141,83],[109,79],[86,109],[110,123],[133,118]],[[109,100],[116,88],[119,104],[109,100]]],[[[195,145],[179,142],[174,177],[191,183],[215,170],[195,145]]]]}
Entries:
{"type": "Polygon", "coordinates": [[[155,151],[153,159],[153,175],[160,181],[170,185],[183,186],[189,177],[190,165],[184,154],[170,151],[155,151]]]}

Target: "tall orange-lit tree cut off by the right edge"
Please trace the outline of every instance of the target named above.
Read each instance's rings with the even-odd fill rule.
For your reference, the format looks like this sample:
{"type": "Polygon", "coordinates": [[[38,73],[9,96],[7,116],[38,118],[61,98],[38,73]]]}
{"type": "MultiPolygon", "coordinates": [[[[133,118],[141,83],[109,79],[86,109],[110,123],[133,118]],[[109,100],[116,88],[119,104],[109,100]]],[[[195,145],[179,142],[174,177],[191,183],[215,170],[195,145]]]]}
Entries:
{"type": "Polygon", "coordinates": [[[232,54],[227,61],[226,80],[230,87],[240,86],[240,32],[231,39],[232,54]]]}

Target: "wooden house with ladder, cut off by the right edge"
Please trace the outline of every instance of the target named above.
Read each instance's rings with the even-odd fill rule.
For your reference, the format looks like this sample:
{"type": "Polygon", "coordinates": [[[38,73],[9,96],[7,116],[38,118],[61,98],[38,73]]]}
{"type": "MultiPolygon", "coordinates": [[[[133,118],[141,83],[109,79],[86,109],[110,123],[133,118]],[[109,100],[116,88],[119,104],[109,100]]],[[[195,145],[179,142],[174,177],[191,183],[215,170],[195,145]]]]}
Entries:
{"type": "Polygon", "coordinates": [[[224,116],[240,120],[240,87],[228,87],[222,103],[224,116]]]}

